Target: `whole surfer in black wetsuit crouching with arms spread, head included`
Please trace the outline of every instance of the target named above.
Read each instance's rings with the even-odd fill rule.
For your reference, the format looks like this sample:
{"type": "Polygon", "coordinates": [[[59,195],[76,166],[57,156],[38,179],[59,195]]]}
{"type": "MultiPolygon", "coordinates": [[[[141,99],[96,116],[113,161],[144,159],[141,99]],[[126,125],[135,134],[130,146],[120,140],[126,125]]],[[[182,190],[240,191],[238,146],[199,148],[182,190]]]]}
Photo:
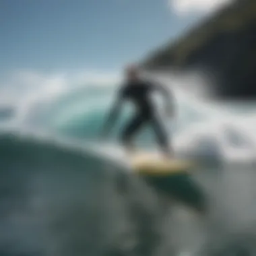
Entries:
{"type": "Polygon", "coordinates": [[[168,114],[173,116],[174,104],[169,90],[160,84],[142,79],[139,75],[139,69],[137,69],[135,65],[126,67],[125,83],[119,89],[117,100],[113,108],[110,110],[108,119],[104,124],[102,137],[106,137],[108,135],[110,128],[115,123],[119,110],[121,109],[121,104],[125,100],[131,100],[131,102],[135,104],[136,113],[121,133],[121,141],[125,148],[127,148],[127,150],[132,150],[132,139],[134,135],[139,131],[139,129],[141,129],[141,127],[150,124],[154,129],[158,145],[164,152],[164,155],[168,157],[173,156],[172,148],[168,143],[168,134],[164,130],[164,127],[156,113],[156,109],[154,108],[154,104],[150,98],[151,92],[154,92],[155,90],[162,92],[168,104],[168,114]]]}

